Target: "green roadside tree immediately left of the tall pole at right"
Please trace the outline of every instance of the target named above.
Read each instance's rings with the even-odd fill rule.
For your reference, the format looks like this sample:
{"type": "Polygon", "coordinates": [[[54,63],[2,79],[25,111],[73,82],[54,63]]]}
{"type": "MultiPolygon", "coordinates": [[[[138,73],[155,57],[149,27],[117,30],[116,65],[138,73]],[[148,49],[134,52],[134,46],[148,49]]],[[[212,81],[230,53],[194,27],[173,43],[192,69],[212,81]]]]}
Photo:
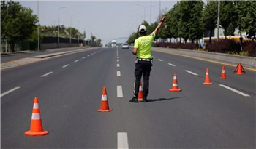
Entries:
{"type": "Polygon", "coordinates": [[[208,0],[205,9],[203,9],[202,24],[203,29],[210,31],[210,40],[211,35],[214,29],[217,27],[217,16],[218,16],[218,1],[217,0],[208,0]]]}

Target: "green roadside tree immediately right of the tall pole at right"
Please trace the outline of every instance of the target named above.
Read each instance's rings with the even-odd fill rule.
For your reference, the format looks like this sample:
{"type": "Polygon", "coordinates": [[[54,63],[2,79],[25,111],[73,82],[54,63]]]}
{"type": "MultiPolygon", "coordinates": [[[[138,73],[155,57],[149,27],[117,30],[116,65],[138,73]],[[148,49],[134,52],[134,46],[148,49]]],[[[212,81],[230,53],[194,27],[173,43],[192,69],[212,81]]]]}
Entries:
{"type": "Polygon", "coordinates": [[[222,0],[219,11],[220,25],[224,35],[233,35],[236,30],[238,14],[233,0],[222,0]]]}

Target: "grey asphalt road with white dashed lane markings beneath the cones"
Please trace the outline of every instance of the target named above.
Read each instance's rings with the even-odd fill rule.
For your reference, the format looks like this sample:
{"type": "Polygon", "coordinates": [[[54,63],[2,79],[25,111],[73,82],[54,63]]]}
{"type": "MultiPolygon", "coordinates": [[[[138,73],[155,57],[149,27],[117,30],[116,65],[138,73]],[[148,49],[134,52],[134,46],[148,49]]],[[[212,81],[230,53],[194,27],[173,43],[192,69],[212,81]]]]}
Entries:
{"type": "Polygon", "coordinates": [[[131,53],[99,48],[1,71],[1,148],[255,148],[255,71],[226,66],[221,80],[222,65],[153,52],[149,102],[129,103],[131,53]],[[173,73],[182,92],[168,92],[173,73]],[[102,86],[110,113],[97,112],[102,86]],[[43,137],[24,135],[35,96],[43,137]]]}

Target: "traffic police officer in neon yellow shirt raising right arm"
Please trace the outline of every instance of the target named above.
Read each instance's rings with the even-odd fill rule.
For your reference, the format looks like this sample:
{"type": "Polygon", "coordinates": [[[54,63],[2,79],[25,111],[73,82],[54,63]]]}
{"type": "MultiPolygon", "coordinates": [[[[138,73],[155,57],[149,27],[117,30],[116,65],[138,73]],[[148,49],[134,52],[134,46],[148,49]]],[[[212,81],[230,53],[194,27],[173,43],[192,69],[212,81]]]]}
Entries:
{"type": "Polygon", "coordinates": [[[146,36],[146,26],[140,25],[140,37],[135,40],[134,49],[132,54],[136,55],[135,63],[135,83],[133,89],[133,97],[129,102],[138,102],[138,92],[140,87],[140,79],[143,75],[143,102],[147,102],[148,96],[148,86],[149,86],[149,76],[152,66],[152,57],[151,57],[151,45],[154,40],[154,37],[157,34],[159,28],[161,28],[162,23],[164,22],[165,17],[162,17],[157,28],[150,35],[146,36]]]}

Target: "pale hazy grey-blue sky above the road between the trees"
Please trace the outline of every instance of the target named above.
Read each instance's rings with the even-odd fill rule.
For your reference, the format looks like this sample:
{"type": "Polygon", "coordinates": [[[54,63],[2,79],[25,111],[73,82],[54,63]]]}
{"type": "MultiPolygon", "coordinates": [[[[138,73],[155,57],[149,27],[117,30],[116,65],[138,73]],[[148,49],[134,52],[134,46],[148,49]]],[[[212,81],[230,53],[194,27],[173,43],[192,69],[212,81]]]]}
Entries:
{"type": "MultiPolygon", "coordinates": [[[[24,7],[33,9],[37,15],[37,0],[14,0],[24,7]]],[[[60,11],[60,25],[78,28],[90,38],[91,33],[107,44],[113,39],[129,37],[144,20],[151,23],[157,20],[159,9],[170,10],[177,0],[39,0],[40,25],[58,25],[58,11],[60,11]],[[150,11],[150,6],[151,11],[150,11]],[[140,5],[140,6],[139,6],[140,5]],[[65,6],[63,9],[59,9],[65,6]],[[143,6],[143,7],[142,7],[143,6]],[[151,12],[151,15],[150,15],[151,12]],[[72,16],[71,15],[76,14],[72,16]]],[[[117,42],[124,42],[120,39],[117,42]]]]}

